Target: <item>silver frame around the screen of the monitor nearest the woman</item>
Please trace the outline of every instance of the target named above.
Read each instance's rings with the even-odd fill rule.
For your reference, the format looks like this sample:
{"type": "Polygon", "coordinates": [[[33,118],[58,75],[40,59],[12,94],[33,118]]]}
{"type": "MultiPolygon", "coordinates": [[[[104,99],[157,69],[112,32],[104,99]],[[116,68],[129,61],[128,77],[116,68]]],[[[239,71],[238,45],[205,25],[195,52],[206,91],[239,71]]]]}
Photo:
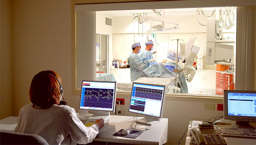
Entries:
{"type": "Polygon", "coordinates": [[[79,109],[84,109],[84,108],[80,108],[81,107],[81,96],[82,96],[82,88],[83,88],[83,82],[87,81],[87,82],[103,82],[103,83],[115,83],[115,90],[114,90],[114,99],[113,99],[113,109],[112,110],[96,110],[96,109],[85,109],[85,110],[93,110],[93,111],[106,111],[106,112],[114,112],[115,111],[115,107],[116,107],[116,81],[91,81],[91,80],[82,80],[81,81],[81,93],[80,93],[80,103],[79,103],[79,109]]]}

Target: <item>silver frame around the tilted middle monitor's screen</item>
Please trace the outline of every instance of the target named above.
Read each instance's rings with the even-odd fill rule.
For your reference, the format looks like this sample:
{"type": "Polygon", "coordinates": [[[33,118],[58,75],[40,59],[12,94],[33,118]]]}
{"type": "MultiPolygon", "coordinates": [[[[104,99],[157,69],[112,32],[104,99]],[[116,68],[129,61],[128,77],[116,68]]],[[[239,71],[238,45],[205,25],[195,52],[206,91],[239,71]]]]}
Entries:
{"type": "Polygon", "coordinates": [[[133,90],[134,84],[145,84],[145,85],[154,85],[154,86],[163,87],[163,100],[162,100],[162,105],[161,105],[161,110],[160,110],[160,116],[158,117],[158,116],[152,116],[152,115],[148,115],[148,114],[143,114],[143,113],[137,113],[137,112],[132,112],[132,111],[130,111],[130,107],[131,107],[131,98],[130,98],[130,104],[129,104],[129,107],[128,107],[128,112],[137,113],[137,114],[141,114],[141,115],[143,115],[143,116],[148,116],[148,117],[162,118],[162,117],[163,117],[164,100],[165,100],[165,97],[166,97],[166,85],[133,82],[133,83],[132,83],[132,87],[131,87],[131,97],[132,97],[132,90],[133,90]]]}

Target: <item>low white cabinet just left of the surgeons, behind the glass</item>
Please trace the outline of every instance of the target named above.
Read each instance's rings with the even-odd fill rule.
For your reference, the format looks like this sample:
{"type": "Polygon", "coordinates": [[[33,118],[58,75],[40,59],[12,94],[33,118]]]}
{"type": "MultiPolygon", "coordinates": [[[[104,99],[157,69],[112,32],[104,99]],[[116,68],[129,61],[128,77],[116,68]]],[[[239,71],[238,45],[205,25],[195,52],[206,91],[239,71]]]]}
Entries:
{"type": "Polygon", "coordinates": [[[119,69],[111,68],[110,73],[112,73],[118,83],[128,83],[131,82],[130,68],[119,69]]]}

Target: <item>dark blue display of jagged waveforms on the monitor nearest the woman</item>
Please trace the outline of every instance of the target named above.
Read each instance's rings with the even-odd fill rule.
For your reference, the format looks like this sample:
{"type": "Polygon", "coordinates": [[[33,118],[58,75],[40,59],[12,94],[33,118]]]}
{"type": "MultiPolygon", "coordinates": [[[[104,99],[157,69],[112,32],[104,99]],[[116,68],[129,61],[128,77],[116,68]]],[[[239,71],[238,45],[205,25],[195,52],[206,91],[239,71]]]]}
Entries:
{"type": "Polygon", "coordinates": [[[112,108],[114,89],[86,88],[84,90],[84,106],[112,108]]]}

